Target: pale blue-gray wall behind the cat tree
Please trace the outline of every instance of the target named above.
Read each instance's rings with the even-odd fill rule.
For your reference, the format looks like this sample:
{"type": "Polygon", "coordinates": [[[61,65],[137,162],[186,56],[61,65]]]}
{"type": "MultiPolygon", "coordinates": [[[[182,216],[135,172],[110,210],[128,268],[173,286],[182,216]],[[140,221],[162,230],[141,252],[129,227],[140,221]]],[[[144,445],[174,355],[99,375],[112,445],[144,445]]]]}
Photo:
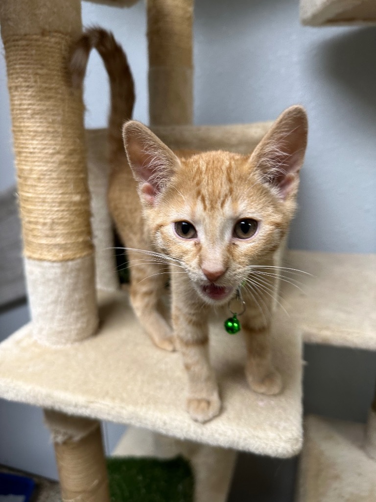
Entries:
{"type": "MultiPolygon", "coordinates": [[[[111,29],[122,43],[136,81],[134,116],[147,123],[143,3],[129,10],[83,3],[83,21],[111,29]]],[[[309,145],[291,247],[376,252],[375,48],[373,28],[301,27],[295,0],[196,2],[196,123],[269,120],[297,102],[308,110],[309,145]]],[[[0,189],[14,180],[4,71],[0,57],[0,189]]],[[[85,91],[89,128],[106,124],[107,89],[105,72],[93,54],[85,91]]],[[[13,324],[21,325],[27,313],[20,308],[7,318],[2,315],[3,336],[10,332],[10,315],[13,324]]],[[[306,359],[306,409],[365,420],[376,372],[375,355],[308,347],[306,359]]],[[[54,475],[40,413],[8,403],[2,404],[0,413],[0,463],[8,460],[12,465],[54,475]]],[[[112,440],[119,434],[119,429],[108,430],[112,440]]]]}

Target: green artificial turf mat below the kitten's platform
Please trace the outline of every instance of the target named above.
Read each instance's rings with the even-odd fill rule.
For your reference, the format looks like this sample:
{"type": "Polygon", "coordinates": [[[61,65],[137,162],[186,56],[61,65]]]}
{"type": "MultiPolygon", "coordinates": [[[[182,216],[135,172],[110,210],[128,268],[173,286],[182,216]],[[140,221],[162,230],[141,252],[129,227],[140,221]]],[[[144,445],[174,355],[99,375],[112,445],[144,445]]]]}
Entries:
{"type": "Polygon", "coordinates": [[[194,480],[182,457],[108,458],[111,502],[193,502],[194,480]]]}

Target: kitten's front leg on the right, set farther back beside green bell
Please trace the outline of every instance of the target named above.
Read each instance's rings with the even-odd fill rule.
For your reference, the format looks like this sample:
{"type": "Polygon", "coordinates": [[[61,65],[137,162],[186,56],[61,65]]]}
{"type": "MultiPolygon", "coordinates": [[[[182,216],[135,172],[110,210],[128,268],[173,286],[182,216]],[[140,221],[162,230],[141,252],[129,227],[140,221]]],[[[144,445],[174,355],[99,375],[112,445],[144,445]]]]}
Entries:
{"type": "Polygon", "coordinates": [[[275,369],[270,347],[271,320],[256,312],[244,314],[242,331],[247,347],[246,378],[260,394],[275,395],[282,390],[280,373],[275,369]]]}

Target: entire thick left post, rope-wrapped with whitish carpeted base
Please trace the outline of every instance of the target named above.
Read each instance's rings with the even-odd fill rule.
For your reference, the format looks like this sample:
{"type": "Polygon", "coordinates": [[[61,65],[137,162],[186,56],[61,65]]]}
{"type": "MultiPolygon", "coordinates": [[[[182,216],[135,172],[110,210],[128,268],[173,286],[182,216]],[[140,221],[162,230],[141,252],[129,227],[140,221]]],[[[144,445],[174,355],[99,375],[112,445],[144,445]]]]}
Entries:
{"type": "Polygon", "coordinates": [[[98,325],[82,95],[67,60],[79,0],[3,0],[25,270],[33,334],[64,345],[98,325]]]}

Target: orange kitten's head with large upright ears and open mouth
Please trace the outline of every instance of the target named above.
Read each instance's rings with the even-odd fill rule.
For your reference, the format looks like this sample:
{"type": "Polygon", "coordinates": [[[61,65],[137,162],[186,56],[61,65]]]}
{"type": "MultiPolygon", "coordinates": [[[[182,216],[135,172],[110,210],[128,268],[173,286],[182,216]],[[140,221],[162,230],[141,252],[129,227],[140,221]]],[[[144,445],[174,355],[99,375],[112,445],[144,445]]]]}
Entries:
{"type": "Polygon", "coordinates": [[[281,246],[306,143],[305,113],[295,108],[297,120],[290,117],[287,129],[285,121],[277,126],[250,156],[207,152],[179,158],[141,124],[125,127],[153,242],[177,260],[207,303],[227,302],[250,267],[269,263],[281,246]],[[286,149],[288,138],[292,147],[286,149]]]}

